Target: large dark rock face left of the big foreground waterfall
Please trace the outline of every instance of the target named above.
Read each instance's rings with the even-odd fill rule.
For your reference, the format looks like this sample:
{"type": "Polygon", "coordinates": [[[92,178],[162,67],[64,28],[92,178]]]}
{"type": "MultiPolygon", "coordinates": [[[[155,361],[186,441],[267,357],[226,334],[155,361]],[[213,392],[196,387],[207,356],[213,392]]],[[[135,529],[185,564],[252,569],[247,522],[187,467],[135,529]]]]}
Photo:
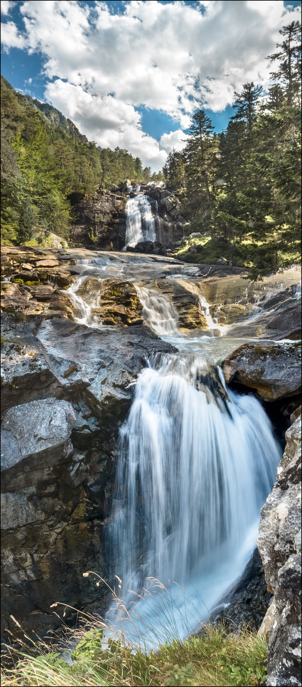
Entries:
{"type": "Polygon", "coordinates": [[[38,315],[4,316],[3,337],[2,636],[16,635],[11,615],[45,635],[62,622],[53,602],[108,605],[108,588],[84,582],[83,572],[112,582],[102,532],[118,430],[146,357],[175,349],[145,326],[97,329],[38,315]]]}

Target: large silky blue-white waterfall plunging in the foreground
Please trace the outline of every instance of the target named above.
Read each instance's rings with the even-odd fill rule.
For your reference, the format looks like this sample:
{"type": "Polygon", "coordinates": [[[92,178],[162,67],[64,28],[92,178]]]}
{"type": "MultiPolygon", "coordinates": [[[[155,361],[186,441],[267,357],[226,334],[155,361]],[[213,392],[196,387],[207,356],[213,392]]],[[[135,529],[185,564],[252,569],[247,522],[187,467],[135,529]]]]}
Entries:
{"type": "Polygon", "coordinates": [[[189,580],[210,609],[255,548],[280,458],[259,401],[226,390],[219,368],[155,357],[121,428],[108,526],[124,599],[135,600],[127,589],[143,594],[148,577],[189,580]]]}

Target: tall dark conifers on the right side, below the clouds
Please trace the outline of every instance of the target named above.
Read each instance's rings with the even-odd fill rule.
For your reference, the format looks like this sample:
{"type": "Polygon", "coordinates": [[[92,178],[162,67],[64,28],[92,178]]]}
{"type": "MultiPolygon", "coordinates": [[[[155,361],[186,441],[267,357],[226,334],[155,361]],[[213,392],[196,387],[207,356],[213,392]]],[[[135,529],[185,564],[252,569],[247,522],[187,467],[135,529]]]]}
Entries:
{"type": "MultiPolygon", "coordinates": [[[[280,33],[268,93],[244,84],[219,135],[199,110],[186,147],[163,170],[179,188],[187,233],[210,232],[212,260],[220,239],[217,255],[249,265],[253,278],[301,259],[301,24],[280,33]]],[[[208,262],[209,250],[188,259],[208,262]]]]}

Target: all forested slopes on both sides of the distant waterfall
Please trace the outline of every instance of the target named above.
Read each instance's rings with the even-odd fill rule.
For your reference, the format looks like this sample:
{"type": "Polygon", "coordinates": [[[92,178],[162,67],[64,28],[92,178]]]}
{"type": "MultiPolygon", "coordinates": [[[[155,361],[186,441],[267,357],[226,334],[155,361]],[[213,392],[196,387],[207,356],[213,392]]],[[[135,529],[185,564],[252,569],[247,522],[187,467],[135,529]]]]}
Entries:
{"type": "MultiPolygon", "coordinates": [[[[281,30],[268,93],[253,82],[235,93],[234,115],[221,134],[201,109],[183,150],[151,176],[127,150],[88,142],[47,103],[16,93],[1,77],[1,241],[42,242],[68,236],[71,192],[90,194],[125,179],[166,179],[177,193],[194,256],[225,256],[253,279],[301,259],[301,24],[281,30]],[[218,245],[219,244],[219,245],[218,245]]],[[[189,247],[190,248],[190,247],[189,247]]]]}

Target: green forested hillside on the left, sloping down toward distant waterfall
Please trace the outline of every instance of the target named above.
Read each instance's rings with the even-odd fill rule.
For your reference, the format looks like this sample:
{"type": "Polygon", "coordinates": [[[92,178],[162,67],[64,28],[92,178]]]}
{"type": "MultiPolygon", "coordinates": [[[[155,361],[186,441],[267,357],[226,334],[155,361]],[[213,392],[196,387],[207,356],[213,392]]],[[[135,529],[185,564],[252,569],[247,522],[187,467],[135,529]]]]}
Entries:
{"type": "Polygon", "coordinates": [[[130,177],[162,178],[142,170],[127,150],[88,142],[71,120],[47,103],[17,93],[1,76],[1,242],[68,236],[71,192],[95,192],[130,177]]]}

